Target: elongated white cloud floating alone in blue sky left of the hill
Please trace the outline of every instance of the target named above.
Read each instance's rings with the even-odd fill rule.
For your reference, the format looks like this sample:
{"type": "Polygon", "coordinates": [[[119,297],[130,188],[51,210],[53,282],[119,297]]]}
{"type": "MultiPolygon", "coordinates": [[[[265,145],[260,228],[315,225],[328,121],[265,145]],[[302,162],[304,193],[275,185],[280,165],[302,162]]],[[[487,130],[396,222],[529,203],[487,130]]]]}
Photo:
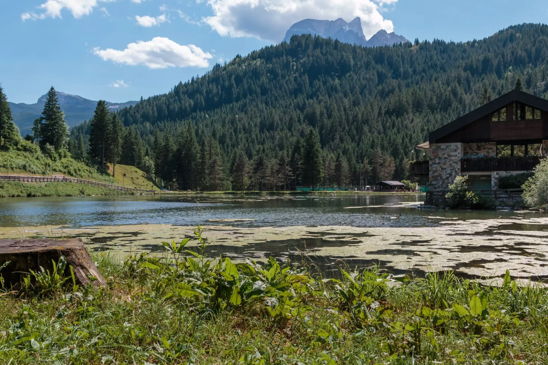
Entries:
{"type": "Polygon", "coordinates": [[[181,45],[173,40],[156,37],[143,42],[128,44],[124,50],[112,48],[93,50],[95,55],[107,61],[123,63],[124,65],[145,65],[149,68],[167,67],[209,67],[208,59],[213,58],[208,52],[193,44],[181,45]]]}

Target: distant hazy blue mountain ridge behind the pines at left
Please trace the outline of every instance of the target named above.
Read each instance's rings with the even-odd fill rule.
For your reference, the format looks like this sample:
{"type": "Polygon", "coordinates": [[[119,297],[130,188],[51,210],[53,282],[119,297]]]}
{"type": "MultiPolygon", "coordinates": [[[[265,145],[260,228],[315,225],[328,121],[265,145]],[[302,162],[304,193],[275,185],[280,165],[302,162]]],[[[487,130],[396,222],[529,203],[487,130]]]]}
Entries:
{"type": "MultiPolygon", "coordinates": [[[[41,116],[47,96],[48,94],[42,95],[34,104],[9,103],[10,108],[12,108],[13,119],[15,124],[19,126],[22,136],[32,134],[32,124],[36,118],[41,116]]],[[[65,112],[65,121],[68,126],[76,126],[81,124],[84,120],[89,120],[93,117],[93,112],[95,111],[95,106],[97,105],[96,101],[59,91],[57,92],[57,96],[61,105],[61,110],[65,112]]],[[[124,103],[109,102],[108,105],[109,108],[114,111],[120,108],[135,105],[136,103],[137,101],[127,101],[124,103]]]]}

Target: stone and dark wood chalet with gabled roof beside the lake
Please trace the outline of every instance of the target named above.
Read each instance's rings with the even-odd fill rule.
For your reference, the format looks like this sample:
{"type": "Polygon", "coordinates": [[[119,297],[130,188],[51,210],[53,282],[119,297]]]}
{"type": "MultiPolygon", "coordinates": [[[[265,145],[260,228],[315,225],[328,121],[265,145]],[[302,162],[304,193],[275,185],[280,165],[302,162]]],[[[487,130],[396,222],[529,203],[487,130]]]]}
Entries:
{"type": "Polygon", "coordinates": [[[427,181],[433,197],[459,175],[470,177],[471,190],[496,190],[500,177],[531,171],[548,155],[548,100],[510,91],[431,132],[417,148],[430,159],[413,164],[412,175],[427,181]]]}

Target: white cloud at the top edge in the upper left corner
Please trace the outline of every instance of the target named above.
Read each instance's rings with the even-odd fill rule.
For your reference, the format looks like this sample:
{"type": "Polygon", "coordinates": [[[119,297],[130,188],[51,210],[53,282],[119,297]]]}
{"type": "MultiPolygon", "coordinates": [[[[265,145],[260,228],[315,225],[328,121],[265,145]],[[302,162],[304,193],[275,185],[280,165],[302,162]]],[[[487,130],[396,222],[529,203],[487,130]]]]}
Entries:
{"type": "MultiPolygon", "coordinates": [[[[40,5],[38,9],[43,9],[43,13],[36,14],[34,11],[27,11],[21,14],[21,20],[37,20],[48,18],[61,18],[61,10],[67,9],[75,18],[82,18],[83,15],[92,13],[93,8],[100,2],[111,2],[115,0],[47,0],[40,5]]],[[[105,9],[106,10],[106,9],[105,9]]]]}

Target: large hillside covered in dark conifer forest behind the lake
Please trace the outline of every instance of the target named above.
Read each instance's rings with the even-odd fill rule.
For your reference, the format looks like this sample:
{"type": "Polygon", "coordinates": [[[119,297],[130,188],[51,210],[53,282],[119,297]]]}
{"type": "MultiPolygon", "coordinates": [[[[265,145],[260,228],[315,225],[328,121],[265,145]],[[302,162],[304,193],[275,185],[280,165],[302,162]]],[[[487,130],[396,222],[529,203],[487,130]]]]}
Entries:
{"type": "MultiPolygon", "coordinates": [[[[143,167],[146,155],[144,170],[181,189],[357,185],[360,171],[403,179],[429,131],[518,78],[533,92],[547,56],[546,25],[379,48],[294,36],[122,109],[120,162],[143,167]]],[[[72,130],[73,154],[89,128],[72,130]]]]}

